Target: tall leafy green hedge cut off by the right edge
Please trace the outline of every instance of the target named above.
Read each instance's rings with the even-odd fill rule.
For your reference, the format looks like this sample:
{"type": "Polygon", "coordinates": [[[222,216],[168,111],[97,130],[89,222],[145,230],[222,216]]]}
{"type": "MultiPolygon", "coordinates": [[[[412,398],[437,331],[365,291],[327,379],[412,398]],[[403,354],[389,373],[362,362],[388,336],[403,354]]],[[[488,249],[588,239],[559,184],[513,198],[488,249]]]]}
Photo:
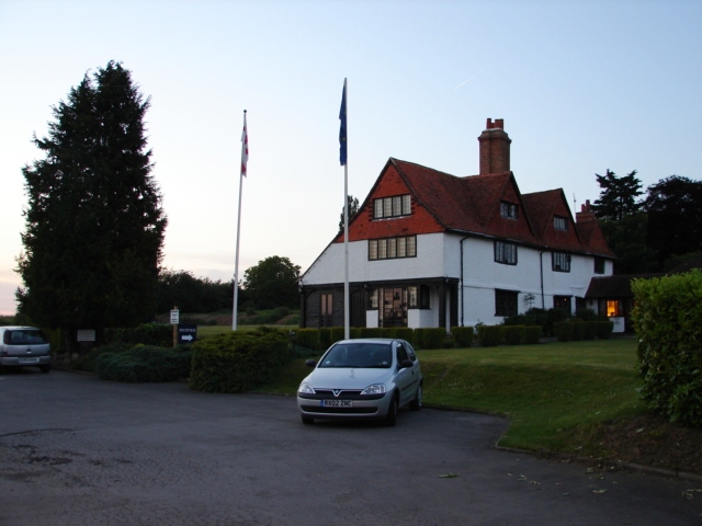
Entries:
{"type": "Polygon", "coordinates": [[[642,398],[671,422],[702,426],[702,271],[632,283],[642,398]]]}

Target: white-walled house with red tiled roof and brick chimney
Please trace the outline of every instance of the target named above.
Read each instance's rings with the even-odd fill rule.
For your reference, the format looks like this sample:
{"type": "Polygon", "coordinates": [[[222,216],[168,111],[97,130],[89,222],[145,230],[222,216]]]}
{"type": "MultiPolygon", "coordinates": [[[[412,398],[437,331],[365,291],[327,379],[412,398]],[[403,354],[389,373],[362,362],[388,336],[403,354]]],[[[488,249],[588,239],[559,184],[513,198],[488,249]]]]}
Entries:
{"type": "MultiPolygon", "coordinates": [[[[575,312],[591,278],[612,274],[589,203],[574,219],[563,190],[520,192],[503,127],[487,121],[477,175],[388,159],[349,224],[351,327],[450,330],[530,307],[575,312]]],[[[301,327],[343,325],[343,238],[302,276],[301,327]]]]}

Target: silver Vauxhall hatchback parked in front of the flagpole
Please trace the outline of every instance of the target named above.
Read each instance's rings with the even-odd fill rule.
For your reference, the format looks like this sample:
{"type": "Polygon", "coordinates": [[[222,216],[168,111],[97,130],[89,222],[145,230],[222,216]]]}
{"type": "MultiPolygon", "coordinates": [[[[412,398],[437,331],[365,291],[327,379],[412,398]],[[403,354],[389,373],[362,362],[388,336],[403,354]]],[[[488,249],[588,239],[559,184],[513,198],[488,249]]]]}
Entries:
{"type": "Polygon", "coordinates": [[[305,424],[315,419],[384,419],[395,425],[403,405],[421,409],[419,359],[405,340],[364,339],[335,343],[297,389],[305,424]]]}

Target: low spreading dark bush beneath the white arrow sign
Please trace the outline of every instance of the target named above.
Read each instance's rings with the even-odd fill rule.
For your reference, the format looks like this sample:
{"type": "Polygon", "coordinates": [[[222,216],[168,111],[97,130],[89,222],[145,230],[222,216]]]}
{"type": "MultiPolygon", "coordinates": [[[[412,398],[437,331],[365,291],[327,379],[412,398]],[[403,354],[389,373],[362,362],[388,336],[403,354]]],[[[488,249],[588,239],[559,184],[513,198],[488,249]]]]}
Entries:
{"type": "Polygon", "coordinates": [[[102,380],[125,382],[174,381],[190,375],[192,351],[137,345],[123,352],[102,352],[95,358],[95,371],[102,380]]]}

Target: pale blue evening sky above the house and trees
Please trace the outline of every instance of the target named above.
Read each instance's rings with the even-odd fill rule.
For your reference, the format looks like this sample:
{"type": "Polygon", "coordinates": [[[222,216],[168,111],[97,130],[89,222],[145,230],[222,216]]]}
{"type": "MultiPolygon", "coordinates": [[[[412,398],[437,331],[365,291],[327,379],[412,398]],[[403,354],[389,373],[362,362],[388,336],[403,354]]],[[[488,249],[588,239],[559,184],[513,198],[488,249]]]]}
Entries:
{"type": "Polygon", "coordinates": [[[702,179],[702,2],[694,0],[0,0],[0,313],[15,310],[26,207],[52,107],[110,60],[150,98],[166,268],[234,277],[279,255],[306,271],[338,231],[339,106],[348,188],[388,158],[478,173],[503,118],[522,193],[596,201],[596,173],[644,188],[702,179]]]}

